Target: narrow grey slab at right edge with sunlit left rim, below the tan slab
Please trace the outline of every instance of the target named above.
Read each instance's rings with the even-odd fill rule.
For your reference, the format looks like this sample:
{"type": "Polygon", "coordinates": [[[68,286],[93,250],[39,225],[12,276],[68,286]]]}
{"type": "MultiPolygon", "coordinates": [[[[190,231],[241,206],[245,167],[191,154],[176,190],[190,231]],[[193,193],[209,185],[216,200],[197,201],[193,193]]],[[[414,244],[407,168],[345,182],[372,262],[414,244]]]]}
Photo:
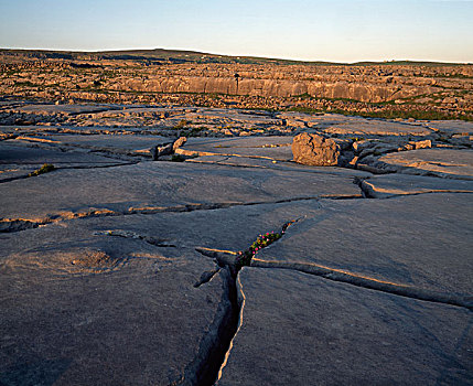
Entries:
{"type": "Polygon", "coordinates": [[[422,193],[473,193],[473,181],[396,173],[370,176],[362,181],[362,189],[370,199],[422,193]]]}

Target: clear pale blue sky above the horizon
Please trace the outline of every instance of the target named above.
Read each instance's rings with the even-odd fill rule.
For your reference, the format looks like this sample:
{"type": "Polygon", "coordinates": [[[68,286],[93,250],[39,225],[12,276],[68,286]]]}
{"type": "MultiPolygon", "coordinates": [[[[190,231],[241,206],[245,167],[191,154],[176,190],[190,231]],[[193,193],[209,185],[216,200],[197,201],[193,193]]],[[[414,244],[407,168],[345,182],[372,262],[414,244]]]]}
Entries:
{"type": "Polygon", "coordinates": [[[0,47],[473,63],[473,0],[0,0],[0,47]]]}

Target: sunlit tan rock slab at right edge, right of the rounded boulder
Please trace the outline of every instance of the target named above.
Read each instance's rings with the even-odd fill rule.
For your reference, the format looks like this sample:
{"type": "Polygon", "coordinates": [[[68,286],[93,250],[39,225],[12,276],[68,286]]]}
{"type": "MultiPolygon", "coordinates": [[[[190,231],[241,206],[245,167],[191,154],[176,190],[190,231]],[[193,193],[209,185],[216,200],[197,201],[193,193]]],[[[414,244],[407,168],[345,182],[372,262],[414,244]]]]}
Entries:
{"type": "Polygon", "coordinates": [[[420,149],[383,156],[381,169],[407,174],[436,175],[473,180],[473,151],[459,149],[420,149]]]}

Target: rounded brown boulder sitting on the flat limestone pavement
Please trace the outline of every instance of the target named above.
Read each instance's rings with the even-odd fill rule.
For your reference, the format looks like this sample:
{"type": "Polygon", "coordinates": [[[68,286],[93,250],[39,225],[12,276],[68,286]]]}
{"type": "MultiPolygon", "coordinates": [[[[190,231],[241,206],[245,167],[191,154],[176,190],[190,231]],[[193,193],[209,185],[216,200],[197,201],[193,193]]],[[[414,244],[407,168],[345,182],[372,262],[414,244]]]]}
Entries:
{"type": "Polygon", "coordinates": [[[331,138],[303,132],[292,141],[294,161],[312,167],[335,167],[338,164],[341,150],[331,138]]]}

